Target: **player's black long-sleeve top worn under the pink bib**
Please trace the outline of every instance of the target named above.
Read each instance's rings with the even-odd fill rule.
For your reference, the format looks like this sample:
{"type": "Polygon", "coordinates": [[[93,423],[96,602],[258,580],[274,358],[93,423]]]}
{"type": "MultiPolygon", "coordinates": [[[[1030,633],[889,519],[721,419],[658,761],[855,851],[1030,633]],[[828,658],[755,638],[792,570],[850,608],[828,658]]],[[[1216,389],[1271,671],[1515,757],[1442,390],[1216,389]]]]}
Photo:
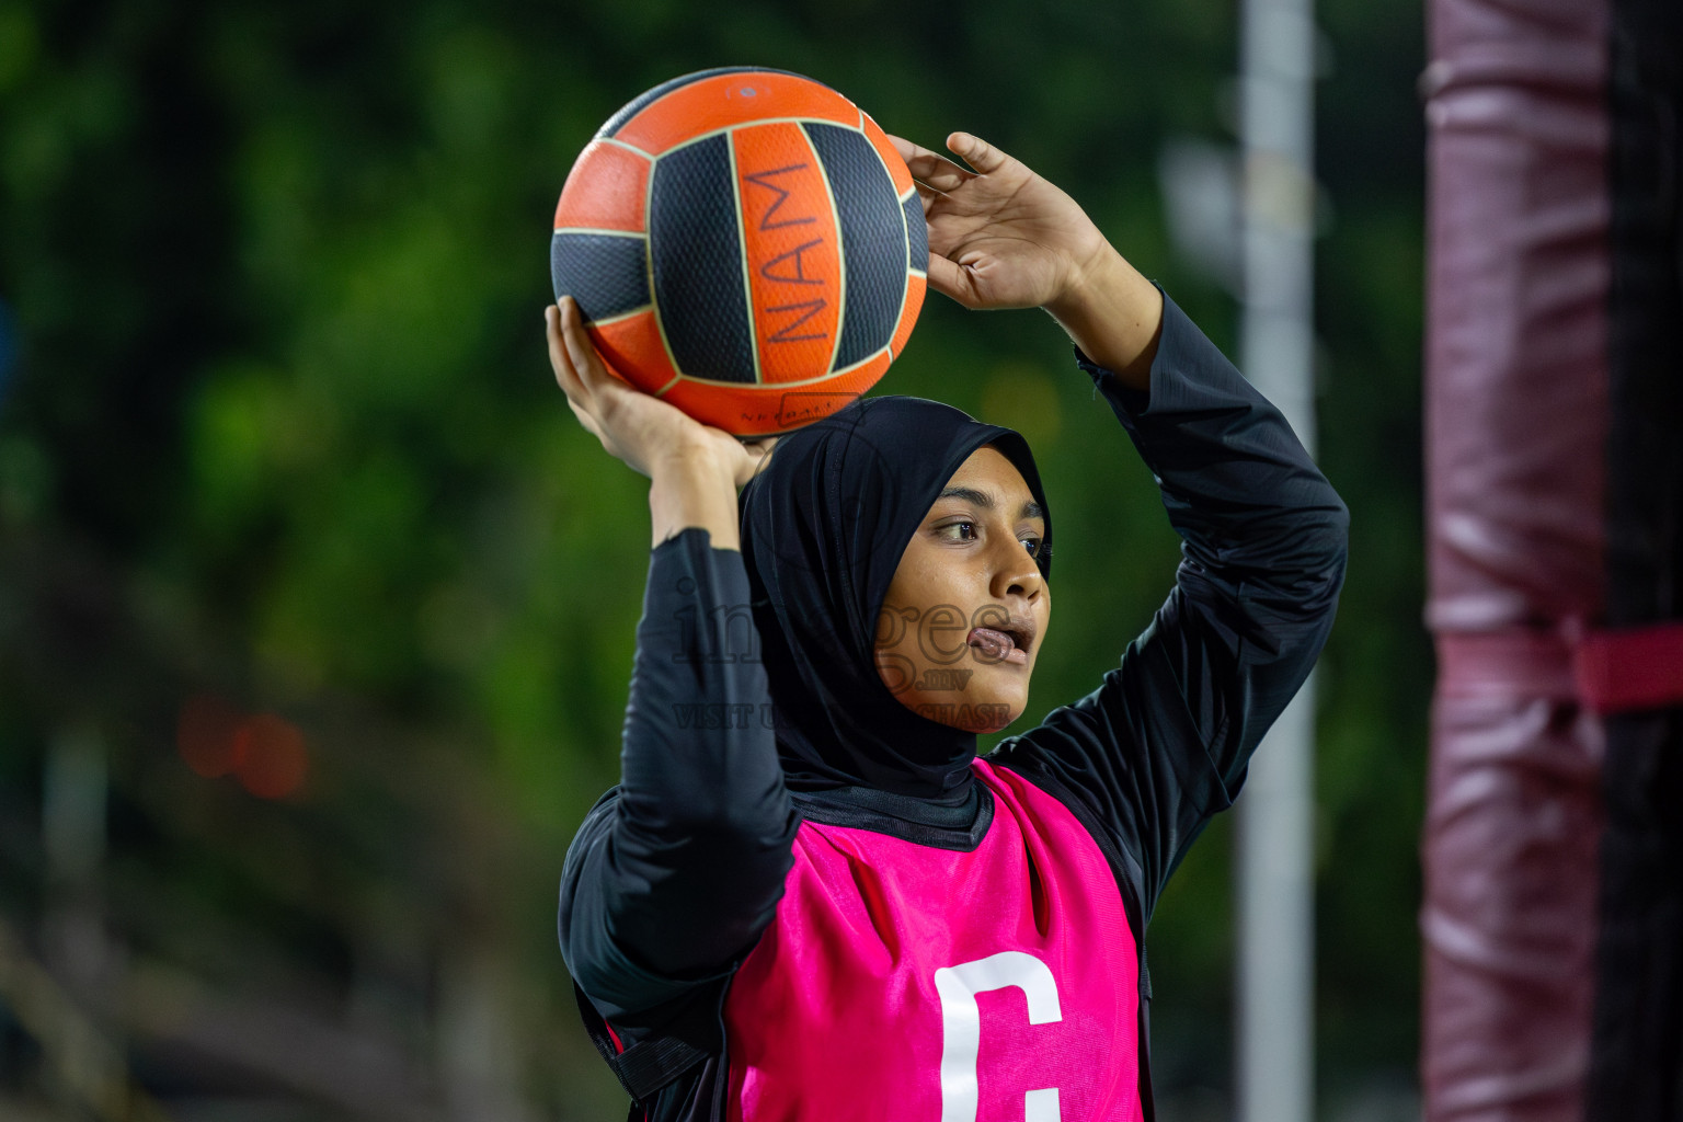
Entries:
{"type": "MultiPolygon", "coordinates": [[[[990,759],[1096,834],[1143,945],[1170,871],[1232,804],[1326,641],[1348,513],[1279,410],[1168,298],[1148,394],[1077,360],[1153,471],[1183,558],[1099,686],[990,759]]],[[[749,595],[741,553],[710,548],[705,530],[655,547],[623,781],[567,853],[562,952],[586,1019],[606,1018],[624,1046],[685,1019],[717,1024],[730,972],[772,920],[801,816],[959,848],[986,829],[973,791],[953,806],[858,789],[791,796],[764,669],[710,638],[751,626],[749,595]]],[[[650,1117],[709,1117],[719,1082],[717,1061],[692,1068],[650,1117]]]]}

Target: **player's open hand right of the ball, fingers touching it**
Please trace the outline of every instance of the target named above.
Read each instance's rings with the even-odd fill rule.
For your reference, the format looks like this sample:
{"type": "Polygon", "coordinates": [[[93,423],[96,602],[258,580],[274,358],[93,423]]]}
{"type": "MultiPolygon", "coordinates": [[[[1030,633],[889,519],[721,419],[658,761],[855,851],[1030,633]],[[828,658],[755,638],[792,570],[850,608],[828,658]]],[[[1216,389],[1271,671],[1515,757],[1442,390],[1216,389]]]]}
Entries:
{"type": "Polygon", "coordinates": [[[966,308],[1055,306],[1118,256],[1074,198],[993,145],[953,133],[974,170],[890,136],[929,220],[929,284],[966,308]]]}

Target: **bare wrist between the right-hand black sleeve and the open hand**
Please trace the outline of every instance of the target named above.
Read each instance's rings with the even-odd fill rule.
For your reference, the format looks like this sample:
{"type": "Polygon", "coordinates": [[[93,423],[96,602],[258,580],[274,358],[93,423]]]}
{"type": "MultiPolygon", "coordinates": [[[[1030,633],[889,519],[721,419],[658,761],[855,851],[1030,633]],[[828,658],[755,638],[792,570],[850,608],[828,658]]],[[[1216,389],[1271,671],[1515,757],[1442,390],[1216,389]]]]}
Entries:
{"type": "Polygon", "coordinates": [[[1163,293],[1109,244],[1070,288],[1047,304],[1092,362],[1123,385],[1151,389],[1151,360],[1163,330],[1163,293]]]}

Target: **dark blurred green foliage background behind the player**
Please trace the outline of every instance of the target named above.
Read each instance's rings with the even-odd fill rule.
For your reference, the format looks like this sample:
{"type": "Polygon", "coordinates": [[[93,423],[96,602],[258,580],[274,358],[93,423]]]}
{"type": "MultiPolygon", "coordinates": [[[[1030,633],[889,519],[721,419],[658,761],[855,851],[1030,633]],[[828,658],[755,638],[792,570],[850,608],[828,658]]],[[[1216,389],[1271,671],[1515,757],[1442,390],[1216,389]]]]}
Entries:
{"type": "MultiPolygon", "coordinates": [[[[1319,459],[1353,552],[1319,671],[1318,1031],[1323,1114],[1345,1117],[1405,1092],[1417,1033],[1422,44],[1412,5],[1325,0],[1319,20],[1319,459]]],[[[101,1023],[131,1087],[185,1110],[209,1077],[180,1026],[284,1008],[390,1045],[417,1102],[495,1085],[528,1117],[614,1117],[552,917],[567,839],[616,777],[648,523],[645,481],[577,427],[544,357],[572,156],[675,74],[811,74],[889,131],[1018,155],[1234,353],[1230,298],[1168,241],[1156,160],[1232,143],[1235,25],[1208,0],[0,0],[17,954],[57,954],[42,786],[54,745],[91,737],[99,927],[125,964],[101,1023]],[[195,775],[175,730],[202,693],[296,723],[305,789],[195,775]]],[[[1055,325],[932,296],[882,390],[1030,437],[1060,538],[1032,708],[1089,690],[1176,553],[1055,325]]],[[[1230,1085],[1229,844],[1212,828],[1151,930],[1176,1117],[1230,1085]]],[[[13,1006],[0,992],[0,1105],[76,1117],[13,1006]]],[[[288,1083],[284,1058],[217,1063],[296,1117],[379,1117],[288,1083]]]]}

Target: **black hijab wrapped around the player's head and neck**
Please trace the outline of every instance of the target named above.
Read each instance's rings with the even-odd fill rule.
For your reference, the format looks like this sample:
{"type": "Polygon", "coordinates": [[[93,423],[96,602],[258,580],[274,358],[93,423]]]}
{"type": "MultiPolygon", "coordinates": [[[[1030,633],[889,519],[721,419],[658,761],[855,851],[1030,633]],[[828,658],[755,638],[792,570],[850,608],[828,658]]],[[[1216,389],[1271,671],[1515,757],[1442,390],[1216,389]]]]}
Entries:
{"type": "MultiPolygon", "coordinates": [[[[983,444],[1011,461],[1049,511],[1050,547],[1028,442],[921,397],[862,397],[784,436],[742,490],[742,560],[789,789],[944,801],[968,792],[976,733],[902,705],[872,651],[912,533],[983,444]]],[[[1049,557],[1040,569],[1050,577],[1049,557]]]]}

